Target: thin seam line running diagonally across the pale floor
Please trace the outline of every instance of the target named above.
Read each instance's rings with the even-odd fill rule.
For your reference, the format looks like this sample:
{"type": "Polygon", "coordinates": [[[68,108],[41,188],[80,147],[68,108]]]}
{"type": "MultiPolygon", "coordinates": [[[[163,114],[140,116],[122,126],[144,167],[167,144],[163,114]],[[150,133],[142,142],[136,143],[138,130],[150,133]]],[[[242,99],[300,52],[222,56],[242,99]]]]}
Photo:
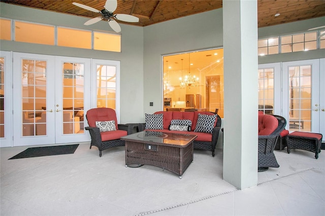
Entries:
{"type": "MultiPolygon", "coordinates": [[[[290,176],[290,175],[295,175],[295,174],[298,174],[300,172],[305,172],[305,171],[308,171],[308,170],[312,170],[312,169],[319,169],[319,168],[313,168],[312,167],[312,168],[303,169],[303,170],[300,170],[300,171],[297,171],[297,172],[293,172],[293,173],[290,173],[290,174],[287,174],[287,175],[279,176],[277,178],[272,178],[272,179],[269,179],[267,181],[258,183],[257,186],[258,185],[262,185],[262,184],[267,183],[267,182],[272,182],[272,181],[275,181],[277,179],[284,178],[284,177],[287,177],[287,176],[290,176]]],[[[151,214],[151,213],[156,213],[156,212],[159,212],[159,211],[165,211],[165,210],[177,208],[177,207],[184,206],[184,205],[189,205],[191,203],[200,202],[202,200],[210,199],[210,198],[213,198],[213,197],[221,196],[221,195],[224,195],[224,194],[229,194],[229,193],[232,193],[232,192],[235,192],[235,191],[238,191],[238,189],[231,190],[231,191],[227,191],[227,192],[223,192],[223,193],[220,193],[220,194],[205,196],[205,197],[202,197],[200,199],[196,199],[196,200],[193,200],[193,201],[190,201],[190,202],[186,202],[186,203],[181,203],[181,204],[174,205],[174,206],[169,206],[169,207],[166,207],[166,208],[161,208],[161,209],[157,209],[157,210],[151,210],[151,211],[147,211],[147,212],[141,212],[139,214],[135,214],[135,216],[142,216],[142,215],[148,215],[148,214],[151,214]]]]}

